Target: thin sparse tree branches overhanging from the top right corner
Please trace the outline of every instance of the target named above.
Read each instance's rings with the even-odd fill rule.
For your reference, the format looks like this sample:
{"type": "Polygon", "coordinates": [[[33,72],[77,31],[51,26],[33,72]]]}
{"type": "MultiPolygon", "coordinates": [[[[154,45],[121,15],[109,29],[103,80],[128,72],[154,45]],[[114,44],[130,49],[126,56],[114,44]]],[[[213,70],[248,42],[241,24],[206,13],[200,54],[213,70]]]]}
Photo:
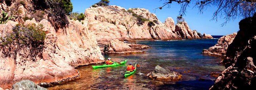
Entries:
{"type": "MultiPolygon", "coordinates": [[[[162,0],[161,0],[162,1],[162,0]]],[[[218,19],[218,17],[226,19],[222,24],[225,25],[228,21],[234,20],[237,17],[252,17],[256,13],[256,0],[164,0],[163,6],[170,5],[172,2],[177,2],[181,5],[180,15],[185,15],[187,6],[193,4],[194,7],[199,9],[200,13],[203,13],[207,8],[217,7],[217,10],[213,13],[212,20],[218,19]],[[191,3],[195,2],[195,3],[191,3]]],[[[163,7],[161,6],[161,7],[163,7]]],[[[159,8],[159,7],[158,7],[159,8]]],[[[157,9],[157,8],[156,8],[157,9]]]]}

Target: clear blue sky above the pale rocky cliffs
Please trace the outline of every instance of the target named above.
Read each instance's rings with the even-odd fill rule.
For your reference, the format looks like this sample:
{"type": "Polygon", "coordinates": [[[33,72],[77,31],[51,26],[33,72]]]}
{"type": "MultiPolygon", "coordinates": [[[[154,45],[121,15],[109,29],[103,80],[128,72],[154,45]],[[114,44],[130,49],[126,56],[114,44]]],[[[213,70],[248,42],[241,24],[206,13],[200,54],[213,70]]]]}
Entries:
{"type": "MultiPolygon", "coordinates": [[[[99,2],[100,0],[71,0],[73,4],[73,12],[84,13],[85,9],[89,8],[91,5],[99,2]]],[[[170,7],[164,6],[162,10],[156,9],[157,7],[163,6],[165,0],[109,0],[109,5],[117,5],[124,7],[125,9],[129,8],[144,8],[148,9],[149,12],[156,14],[157,18],[164,23],[168,17],[176,22],[177,16],[179,16],[180,5],[176,2],[170,4],[170,7]]],[[[211,35],[228,35],[236,33],[239,30],[239,21],[241,18],[236,20],[229,21],[225,26],[221,26],[225,22],[224,19],[218,17],[218,21],[212,21],[213,12],[216,10],[216,7],[208,7],[203,14],[198,12],[198,8],[193,8],[194,4],[191,4],[187,7],[186,16],[183,18],[188,23],[188,26],[191,30],[197,30],[197,32],[203,34],[211,35]]]]}

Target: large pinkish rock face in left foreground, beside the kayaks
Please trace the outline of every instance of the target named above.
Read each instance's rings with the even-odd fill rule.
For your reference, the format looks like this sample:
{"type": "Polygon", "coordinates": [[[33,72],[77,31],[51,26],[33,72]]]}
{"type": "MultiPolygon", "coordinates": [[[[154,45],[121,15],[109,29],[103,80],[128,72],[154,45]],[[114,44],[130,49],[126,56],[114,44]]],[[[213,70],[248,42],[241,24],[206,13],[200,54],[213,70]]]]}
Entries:
{"type": "MultiPolygon", "coordinates": [[[[78,65],[102,62],[97,41],[79,21],[70,20],[69,28],[56,30],[47,20],[36,23],[27,20],[24,25],[35,23],[42,24],[46,31],[44,49],[38,55],[32,56],[30,47],[18,46],[1,47],[0,50],[0,87],[10,88],[17,81],[29,79],[36,84],[46,82],[51,84],[66,79],[80,77],[74,69],[78,65]],[[11,50],[9,56],[4,52],[11,50]]],[[[4,37],[12,32],[16,22],[8,21],[0,25],[0,36],[4,37]]],[[[1,41],[0,41],[1,42],[1,41]]]]}

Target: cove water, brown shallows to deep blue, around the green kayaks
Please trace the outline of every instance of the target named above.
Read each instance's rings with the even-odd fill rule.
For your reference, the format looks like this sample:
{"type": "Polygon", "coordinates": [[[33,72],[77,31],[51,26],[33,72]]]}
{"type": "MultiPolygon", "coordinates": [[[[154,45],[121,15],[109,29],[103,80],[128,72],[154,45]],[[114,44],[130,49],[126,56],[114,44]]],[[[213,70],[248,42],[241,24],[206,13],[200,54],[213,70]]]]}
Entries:
{"type": "Polygon", "coordinates": [[[215,77],[211,72],[222,72],[225,67],[218,62],[220,57],[203,55],[202,50],[217,43],[218,39],[137,41],[152,48],[143,49],[143,54],[109,54],[105,58],[120,62],[128,59],[125,65],[93,69],[91,65],[80,66],[82,78],[48,87],[50,90],[208,90],[215,77]],[[135,74],[124,77],[126,66],[137,63],[135,74]],[[182,74],[182,80],[155,80],[146,75],[159,65],[182,74]]]}

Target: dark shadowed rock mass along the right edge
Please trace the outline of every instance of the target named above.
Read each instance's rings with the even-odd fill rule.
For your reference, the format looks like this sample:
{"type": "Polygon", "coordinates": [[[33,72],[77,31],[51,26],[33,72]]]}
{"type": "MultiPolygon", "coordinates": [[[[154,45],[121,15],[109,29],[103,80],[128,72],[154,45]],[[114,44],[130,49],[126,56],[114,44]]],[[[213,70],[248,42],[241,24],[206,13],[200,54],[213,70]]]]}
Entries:
{"type": "Polygon", "coordinates": [[[210,90],[253,89],[256,85],[256,15],[239,22],[240,31],[228,46],[222,61],[226,69],[210,90]]]}

